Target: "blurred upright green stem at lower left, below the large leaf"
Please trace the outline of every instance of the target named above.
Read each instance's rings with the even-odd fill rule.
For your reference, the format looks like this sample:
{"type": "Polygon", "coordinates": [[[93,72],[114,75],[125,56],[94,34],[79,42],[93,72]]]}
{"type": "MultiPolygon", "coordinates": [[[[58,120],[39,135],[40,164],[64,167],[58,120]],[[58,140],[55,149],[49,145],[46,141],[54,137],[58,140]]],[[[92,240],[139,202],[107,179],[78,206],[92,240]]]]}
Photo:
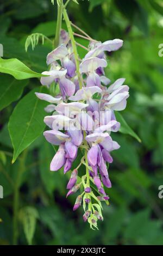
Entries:
{"type": "Polygon", "coordinates": [[[18,210],[19,210],[19,188],[21,185],[21,179],[22,179],[22,173],[25,169],[24,167],[24,161],[26,159],[27,150],[24,150],[22,153],[22,156],[20,157],[20,164],[18,167],[18,173],[17,173],[17,179],[16,184],[14,188],[14,201],[13,201],[13,245],[17,245],[17,239],[18,239],[18,210]]]}

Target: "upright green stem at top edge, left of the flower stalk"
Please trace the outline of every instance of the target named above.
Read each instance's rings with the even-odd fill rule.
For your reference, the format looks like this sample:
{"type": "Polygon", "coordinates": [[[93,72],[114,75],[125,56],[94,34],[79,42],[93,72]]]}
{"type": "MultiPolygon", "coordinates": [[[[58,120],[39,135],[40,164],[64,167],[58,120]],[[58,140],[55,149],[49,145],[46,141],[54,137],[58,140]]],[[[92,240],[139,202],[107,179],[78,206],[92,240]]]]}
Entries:
{"type": "Polygon", "coordinates": [[[60,31],[62,26],[62,9],[63,9],[63,0],[60,0],[60,3],[58,5],[57,28],[55,31],[54,48],[57,48],[59,46],[60,31]]]}

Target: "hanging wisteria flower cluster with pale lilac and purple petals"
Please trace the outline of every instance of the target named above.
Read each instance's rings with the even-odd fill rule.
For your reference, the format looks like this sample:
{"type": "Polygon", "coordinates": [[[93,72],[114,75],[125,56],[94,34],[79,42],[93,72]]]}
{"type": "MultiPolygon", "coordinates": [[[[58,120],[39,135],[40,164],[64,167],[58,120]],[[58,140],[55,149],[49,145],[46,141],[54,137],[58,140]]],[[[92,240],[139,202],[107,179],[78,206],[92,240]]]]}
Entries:
{"type": "Polygon", "coordinates": [[[108,163],[112,163],[111,151],[120,148],[113,141],[111,132],[120,129],[115,111],[126,108],[129,87],[120,78],[110,84],[105,76],[106,52],[117,51],[122,47],[120,39],[98,42],[90,40],[89,51],[85,57],[74,57],[74,49],[69,34],[61,30],[60,44],[47,55],[49,71],[42,72],[41,84],[48,88],[59,86],[58,95],[36,93],[41,100],[50,104],[45,111],[52,113],[44,119],[50,130],[43,133],[46,140],[58,145],[50,169],[71,170],[78,150],[82,151],[79,166],[71,172],[67,184],[67,197],[80,191],[73,210],[83,204],[84,222],[97,228],[97,220],[103,220],[102,203],[109,204],[105,187],[111,187],[108,163]],[[81,176],[80,169],[86,170],[81,176]],[[81,168],[80,168],[81,167],[81,168]]]}

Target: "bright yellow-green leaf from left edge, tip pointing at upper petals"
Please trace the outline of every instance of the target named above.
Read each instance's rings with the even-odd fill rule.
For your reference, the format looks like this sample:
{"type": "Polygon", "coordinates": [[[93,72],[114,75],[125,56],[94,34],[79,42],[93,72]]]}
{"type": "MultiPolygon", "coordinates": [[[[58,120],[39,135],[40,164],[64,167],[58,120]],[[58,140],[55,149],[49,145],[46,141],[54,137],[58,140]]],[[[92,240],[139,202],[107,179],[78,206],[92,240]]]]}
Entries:
{"type": "Polygon", "coordinates": [[[18,80],[27,79],[31,77],[45,76],[29,69],[28,66],[26,66],[18,59],[0,58],[0,72],[10,74],[18,80]]]}

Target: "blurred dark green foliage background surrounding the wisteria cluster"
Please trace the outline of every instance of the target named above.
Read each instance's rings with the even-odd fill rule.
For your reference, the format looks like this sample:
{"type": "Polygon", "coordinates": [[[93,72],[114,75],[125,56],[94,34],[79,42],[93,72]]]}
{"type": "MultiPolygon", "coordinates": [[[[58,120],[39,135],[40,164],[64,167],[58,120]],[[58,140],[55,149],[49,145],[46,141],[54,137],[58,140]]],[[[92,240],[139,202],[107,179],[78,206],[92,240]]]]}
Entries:
{"type": "MultiPolygon", "coordinates": [[[[51,46],[46,42],[26,53],[24,42],[34,32],[54,38],[57,4],[6,0],[1,1],[0,14],[4,58],[18,58],[35,71],[47,70],[46,55],[51,46]]],[[[121,148],[112,154],[114,162],[109,169],[110,206],[104,205],[104,221],[99,223],[99,231],[93,231],[83,223],[82,208],[72,211],[76,196],[65,198],[69,174],[49,171],[54,149],[42,135],[23,153],[24,162],[19,158],[11,164],[13,149],[7,124],[17,101],[4,108],[0,112],[0,185],[4,187],[0,244],[12,244],[12,204],[21,169],[18,245],[28,244],[27,240],[33,240],[34,245],[163,245],[163,199],[158,197],[158,187],[163,185],[163,57],[158,55],[163,44],[163,3],[84,0],[77,5],[71,1],[68,14],[96,40],[124,40],[120,50],[107,55],[106,74],[112,82],[126,77],[130,97],[122,114],[142,143],[128,135],[114,136],[121,148]]],[[[78,41],[87,45],[84,39],[78,41]]],[[[86,52],[79,48],[79,53],[82,58],[86,52]]],[[[7,79],[14,80],[0,75],[0,87],[7,79]]],[[[20,97],[40,86],[36,78],[26,84],[22,84],[20,97]]]]}

